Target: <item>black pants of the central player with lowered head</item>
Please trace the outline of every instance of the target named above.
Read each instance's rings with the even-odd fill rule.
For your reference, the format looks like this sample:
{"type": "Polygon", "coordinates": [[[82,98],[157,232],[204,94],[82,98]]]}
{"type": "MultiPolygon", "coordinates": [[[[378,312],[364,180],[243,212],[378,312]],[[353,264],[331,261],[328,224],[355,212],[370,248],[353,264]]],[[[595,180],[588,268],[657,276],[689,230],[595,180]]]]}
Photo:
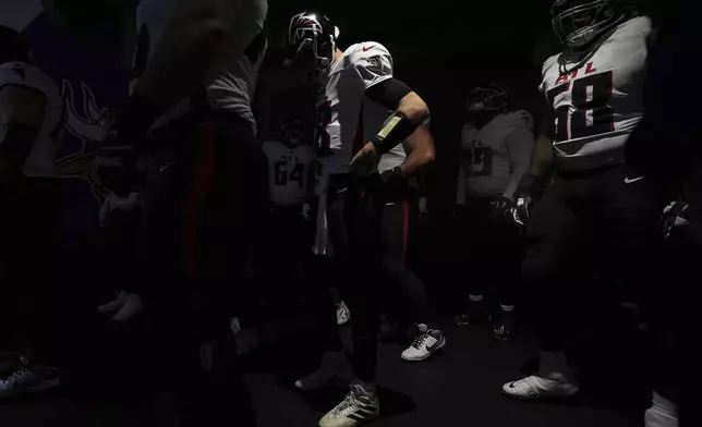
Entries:
{"type": "Polygon", "coordinates": [[[376,176],[332,175],[328,194],[331,241],[337,256],[347,260],[353,369],[361,381],[373,382],[382,292],[390,290],[410,301],[417,321],[436,324],[424,284],[407,265],[412,227],[409,193],[385,187],[376,176]]]}

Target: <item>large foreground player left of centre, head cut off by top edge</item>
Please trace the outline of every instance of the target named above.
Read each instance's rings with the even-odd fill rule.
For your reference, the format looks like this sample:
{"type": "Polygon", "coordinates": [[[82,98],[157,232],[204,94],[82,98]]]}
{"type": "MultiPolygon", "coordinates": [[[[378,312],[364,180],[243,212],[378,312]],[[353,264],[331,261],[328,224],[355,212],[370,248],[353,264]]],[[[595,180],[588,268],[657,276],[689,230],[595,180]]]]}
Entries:
{"type": "Polygon", "coordinates": [[[119,195],[135,184],[135,158],[153,150],[147,285],[99,310],[130,320],[140,296],[144,309],[158,308],[159,351],[174,368],[186,426],[256,424],[229,306],[269,203],[251,107],[266,14],[266,0],[142,0],[135,81],[98,156],[105,175],[121,178],[109,181],[119,195]]]}

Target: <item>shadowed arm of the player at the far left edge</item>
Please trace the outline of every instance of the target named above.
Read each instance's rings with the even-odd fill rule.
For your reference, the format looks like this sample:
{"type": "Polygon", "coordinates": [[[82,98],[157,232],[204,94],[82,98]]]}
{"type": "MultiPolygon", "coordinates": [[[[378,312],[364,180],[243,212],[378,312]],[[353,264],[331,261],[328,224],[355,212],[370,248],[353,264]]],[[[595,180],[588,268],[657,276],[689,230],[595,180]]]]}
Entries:
{"type": "Polygon", "coordinates": [[[44,123],[45,95],[25,86],[7,85],[0,89],[0,119],[5,129],[0,141],[2,179],[22,173],[44,123]]]}

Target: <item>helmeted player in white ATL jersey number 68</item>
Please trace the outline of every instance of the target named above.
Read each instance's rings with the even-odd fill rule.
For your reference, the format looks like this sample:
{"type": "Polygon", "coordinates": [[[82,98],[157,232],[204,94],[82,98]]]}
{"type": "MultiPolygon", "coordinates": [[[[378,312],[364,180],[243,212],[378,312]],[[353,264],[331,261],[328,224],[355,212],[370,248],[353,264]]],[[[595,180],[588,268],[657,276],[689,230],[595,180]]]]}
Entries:
{"type": "Polygon", "coordinates": [[[643,117],[651,21],[609,0],[558,0],[552,19],[564,49],[542,71],[548,132],[515,196],[515,219],[529,221],[522,279],[536,293],[542,350],[535,375],[503,387],[522,400],[578,392],[562,351],[572,286],[594,261],[629,291],[652,281],[665,206],[652,180],[631,171],[624,156],[643,117]],[[532,211],[536,183],[552,166],[555,180],[532,211]]]}

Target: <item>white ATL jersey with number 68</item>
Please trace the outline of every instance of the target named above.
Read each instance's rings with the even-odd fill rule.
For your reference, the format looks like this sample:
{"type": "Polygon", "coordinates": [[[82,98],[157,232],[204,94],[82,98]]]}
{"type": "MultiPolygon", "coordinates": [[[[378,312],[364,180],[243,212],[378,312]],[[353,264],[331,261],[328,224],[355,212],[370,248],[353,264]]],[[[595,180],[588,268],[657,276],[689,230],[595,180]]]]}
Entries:
{"type": "Polygon", "coordinates": [[[554,149],[560,169],[625,161],[625,143],[643,117],[650,34],[651,21],[636,17],[620,24],[579,68],[582,59],[567,53],[544,63],[540,90],[555,115],[554,149]]]}

